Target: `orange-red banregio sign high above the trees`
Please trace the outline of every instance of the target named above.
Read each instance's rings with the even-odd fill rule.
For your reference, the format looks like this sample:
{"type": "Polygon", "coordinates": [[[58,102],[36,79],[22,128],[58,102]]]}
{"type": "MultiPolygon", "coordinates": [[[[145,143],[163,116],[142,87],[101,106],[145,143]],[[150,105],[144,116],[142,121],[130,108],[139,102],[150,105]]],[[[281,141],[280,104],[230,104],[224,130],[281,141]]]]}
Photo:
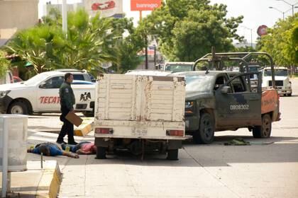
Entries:
{"type": "Polygon", "coordinates": [[[131,0],[131,11],[153,11],[161,6],[161,0],[131,0]]]}

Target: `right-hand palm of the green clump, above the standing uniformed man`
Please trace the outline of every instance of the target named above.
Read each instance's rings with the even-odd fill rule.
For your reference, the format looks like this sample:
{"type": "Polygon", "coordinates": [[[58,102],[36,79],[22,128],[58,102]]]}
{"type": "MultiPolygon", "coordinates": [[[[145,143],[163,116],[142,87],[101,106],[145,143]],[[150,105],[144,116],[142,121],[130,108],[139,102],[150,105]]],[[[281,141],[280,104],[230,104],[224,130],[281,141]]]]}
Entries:
{"type": "Polygon", "coordinates": [[[103,62],[116,62],[111,18],[89,18],[79,10],[68,14],[67,25],[66,44],[54,54],[60,67],[100,70],[103,62]]]}

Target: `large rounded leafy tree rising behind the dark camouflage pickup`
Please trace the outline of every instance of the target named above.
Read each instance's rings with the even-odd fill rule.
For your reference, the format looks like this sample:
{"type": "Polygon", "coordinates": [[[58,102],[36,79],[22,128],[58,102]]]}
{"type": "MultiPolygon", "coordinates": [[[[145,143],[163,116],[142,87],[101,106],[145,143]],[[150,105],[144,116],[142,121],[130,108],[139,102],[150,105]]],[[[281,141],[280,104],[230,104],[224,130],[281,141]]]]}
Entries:
{"type": "Polygon", "coordinates": [[[140,28],[157,38],[167,59],[194,61],[212,46],[216,52],[233,50],[232,39],[242,39],[236,28],[243,17],[226,18],[226,13],[225,5],[210,5],[208,0],[168,0],[144,18],[140,28]]]}

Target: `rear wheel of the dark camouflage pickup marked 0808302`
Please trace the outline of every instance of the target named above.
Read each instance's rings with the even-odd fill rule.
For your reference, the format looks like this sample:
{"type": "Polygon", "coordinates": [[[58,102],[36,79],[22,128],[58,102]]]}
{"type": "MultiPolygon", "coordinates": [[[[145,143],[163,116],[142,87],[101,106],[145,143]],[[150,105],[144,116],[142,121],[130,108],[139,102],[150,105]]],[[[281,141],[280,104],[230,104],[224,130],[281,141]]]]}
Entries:
{"type": "Polygon", "coordinates": [[[262,126],[257,126],[253,128],[254,138],[268,138],[271,135],[272,120],[269,114],[262,116],[262,126]]]}

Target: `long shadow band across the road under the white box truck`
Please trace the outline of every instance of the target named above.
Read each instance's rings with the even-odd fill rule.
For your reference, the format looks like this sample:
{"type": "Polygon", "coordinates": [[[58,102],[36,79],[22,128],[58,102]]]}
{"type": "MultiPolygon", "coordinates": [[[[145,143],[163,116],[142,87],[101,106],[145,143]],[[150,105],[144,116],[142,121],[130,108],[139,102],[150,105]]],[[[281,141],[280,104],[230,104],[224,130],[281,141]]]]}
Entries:
{"type": "MultiPolygon", "coordinates": [[[[39,134],[35,134],[39,136],[39,134]]],[[[40,143],[43,136],[38,137],[40,143]]],[[[56,136],[51,136],[55,141],[56,136]]],[[[92,141],[90,137],[89,141],[92,141]]],[[[33,140],[28,141],[33,144],[33,140]]],[[[200,167],[200,166],[229,166],[231,163],[297,163],[298,138],[291,136],[272,136],[269,139],[254,139],[253,136],[221,135],[215,136],[214,142],[209,145],[194,144],[190,139],[183,142],[179,150],[179,161],[167,161],[165,154],[145,153],[143,161],[140,156],[129,152],[108,154],[107,159],[95,159],[95,155],[80,156],[79,159],[59,157],[45,157],[45,160],[56,160],[59,165],[140,165],[140,166],[175,166],[175,167],[200,167]],[[243,138],[250,142],[250,146],[224,146],[227,141],[243,138]],[[272,143],[272,144],[263,144],[272,143]]],[[[28,160],[38,161],[40,156],[29,154],[28,160]]]]}

